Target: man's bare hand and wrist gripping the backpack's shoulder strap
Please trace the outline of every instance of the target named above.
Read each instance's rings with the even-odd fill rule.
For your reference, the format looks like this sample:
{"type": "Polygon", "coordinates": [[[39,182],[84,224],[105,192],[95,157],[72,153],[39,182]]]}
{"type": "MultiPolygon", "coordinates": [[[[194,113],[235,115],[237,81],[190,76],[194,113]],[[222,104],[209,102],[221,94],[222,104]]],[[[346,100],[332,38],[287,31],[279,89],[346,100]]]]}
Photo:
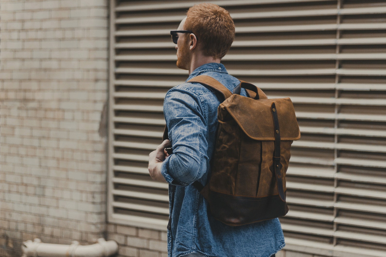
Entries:
{"type": "Polygon", "coordinates": [[[166,182],[166,179],[161,174],[161,166],[165,158],[169,156],[165,150],[169,145],[170,141],[166,139],[162,144],[158,145],[156,150],[149,154],[149,174],[156,181],[166,182]]]}

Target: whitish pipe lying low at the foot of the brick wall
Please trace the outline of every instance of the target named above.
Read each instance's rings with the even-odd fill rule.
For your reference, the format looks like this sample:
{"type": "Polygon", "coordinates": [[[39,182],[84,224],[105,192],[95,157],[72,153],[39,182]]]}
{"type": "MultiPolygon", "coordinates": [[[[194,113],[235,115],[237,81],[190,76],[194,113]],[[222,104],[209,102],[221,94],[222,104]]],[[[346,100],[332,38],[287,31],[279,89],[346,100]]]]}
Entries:
{"type": "Polygon", "coordinates": [[[114,240],[106,241],[98,238],[93,245],[80,245],[72,241],[71,245],[42,243],[39,238],[27,240],[22,244],[22,257],[108,257],[118,252],[118,244],[114,240]]]}

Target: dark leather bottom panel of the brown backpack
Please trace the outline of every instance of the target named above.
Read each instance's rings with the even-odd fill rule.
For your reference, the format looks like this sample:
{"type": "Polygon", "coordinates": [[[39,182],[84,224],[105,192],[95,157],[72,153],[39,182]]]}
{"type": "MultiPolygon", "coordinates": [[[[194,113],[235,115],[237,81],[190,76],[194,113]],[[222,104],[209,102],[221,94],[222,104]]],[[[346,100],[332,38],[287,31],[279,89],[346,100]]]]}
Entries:
{"type": "Polygon", "coordinates": [[[278,194],[250,197],[234,196],[210,190],[209,206],[215,219],[230,226],[278,218],[288,212],[286,202],[283,202],[278,194]]]}

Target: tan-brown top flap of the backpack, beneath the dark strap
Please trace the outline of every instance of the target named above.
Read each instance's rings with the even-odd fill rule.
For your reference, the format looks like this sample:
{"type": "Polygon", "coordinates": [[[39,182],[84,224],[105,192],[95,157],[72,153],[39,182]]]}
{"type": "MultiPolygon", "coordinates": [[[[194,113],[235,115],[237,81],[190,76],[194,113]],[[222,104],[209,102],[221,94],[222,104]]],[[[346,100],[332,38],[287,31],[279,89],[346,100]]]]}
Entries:
{"type": "Polygon", "coordinates": [[[276,105],[281,140],[300,139],[295,109],[289,97],[254,100],[234,94],[218,107],[218,120],[221,121],[229,113],[251,139],[274,141],[272,103],[276,105]]]}

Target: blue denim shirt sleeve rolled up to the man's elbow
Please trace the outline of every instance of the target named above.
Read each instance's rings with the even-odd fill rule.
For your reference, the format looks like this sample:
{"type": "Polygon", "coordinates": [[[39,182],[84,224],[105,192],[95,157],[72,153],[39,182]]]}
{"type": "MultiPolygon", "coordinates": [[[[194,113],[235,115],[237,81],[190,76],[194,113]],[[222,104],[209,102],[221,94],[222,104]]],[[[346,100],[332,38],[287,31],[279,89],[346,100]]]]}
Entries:
{"type": "Polygon", "coordinates": [[[185,88],[172,88],[164,101],[164,115],[173,154],[161,173],[171,184],[187,186],[207,171],[207,122],[200,97],[185,88]]]}

